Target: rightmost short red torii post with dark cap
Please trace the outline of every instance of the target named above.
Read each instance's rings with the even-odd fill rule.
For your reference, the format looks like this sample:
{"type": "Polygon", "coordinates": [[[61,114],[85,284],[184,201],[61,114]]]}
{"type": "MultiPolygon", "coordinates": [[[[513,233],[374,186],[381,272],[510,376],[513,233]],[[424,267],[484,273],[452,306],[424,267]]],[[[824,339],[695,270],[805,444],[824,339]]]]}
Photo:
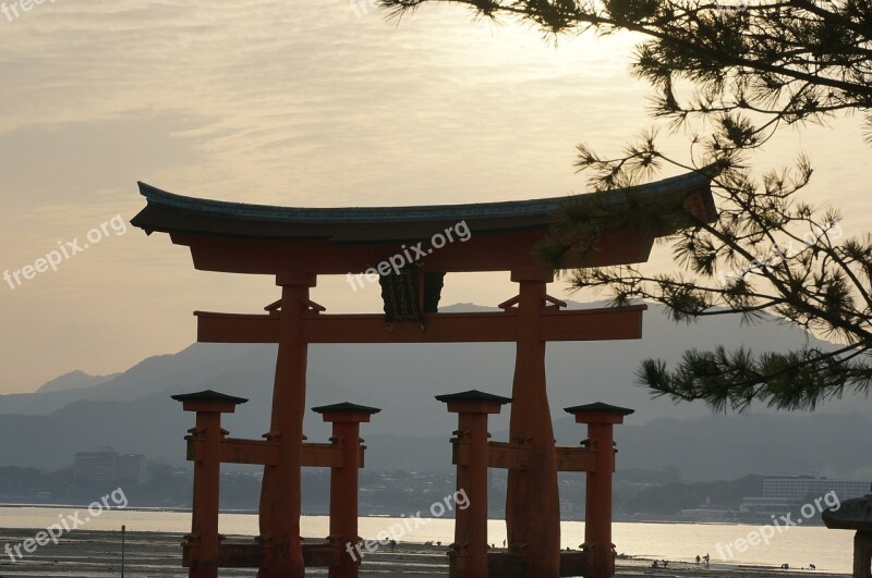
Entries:
{"type": "Polygon", "coordinates": [[[591,578],[609,578],[615,574],[611,544],[611,475],[615,472],[615,425],[634,409],[596,403],[567,407],[576,423],[588,425],[588,447],[594,452],[594,467],[588,471],[584,500],[584,544],[591,578]]]}

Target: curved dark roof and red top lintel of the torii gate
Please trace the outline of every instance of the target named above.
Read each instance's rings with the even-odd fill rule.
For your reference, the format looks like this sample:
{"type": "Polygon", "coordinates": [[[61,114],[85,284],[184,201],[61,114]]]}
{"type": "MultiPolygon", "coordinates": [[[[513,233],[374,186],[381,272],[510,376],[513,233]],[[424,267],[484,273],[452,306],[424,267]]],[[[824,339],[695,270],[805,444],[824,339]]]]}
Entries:
{"type": "Polygon", "coordinates": [[[300,208],[228,202],[175,195],[140,183],[146,207],[131,221],[146,233],[169,233],[191,247],[198,269],[243,273],[361,272],[405,245],[464,222],[469,243],[428,254],[434,271],[495,271],[536,265],[531,255],[564,204],[595,204],[620,216],[634,200],[650,204],[668,223],[658,231],[616,229],[601,238],[596,256],[578,266],[639,262],[654,237],[686,226],[687,210],[715,217],[706,171],[601,193],[502,202],[413,207],[300,208]]]}

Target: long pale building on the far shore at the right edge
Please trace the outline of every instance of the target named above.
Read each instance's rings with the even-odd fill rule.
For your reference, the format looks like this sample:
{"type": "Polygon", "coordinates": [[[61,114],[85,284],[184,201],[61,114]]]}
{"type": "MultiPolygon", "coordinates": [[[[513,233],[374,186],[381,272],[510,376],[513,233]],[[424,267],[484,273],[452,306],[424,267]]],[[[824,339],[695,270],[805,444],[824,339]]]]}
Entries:
{"type": "Polygon", "coordinates": [[[829,480],[819,476],[780,476],[764,478],[763,495],[744,497],[740,511],[747,514],[785,514],[801,507],[810,499],[835,492],[839,502],[870,493],[865,481],[829,480]]]}

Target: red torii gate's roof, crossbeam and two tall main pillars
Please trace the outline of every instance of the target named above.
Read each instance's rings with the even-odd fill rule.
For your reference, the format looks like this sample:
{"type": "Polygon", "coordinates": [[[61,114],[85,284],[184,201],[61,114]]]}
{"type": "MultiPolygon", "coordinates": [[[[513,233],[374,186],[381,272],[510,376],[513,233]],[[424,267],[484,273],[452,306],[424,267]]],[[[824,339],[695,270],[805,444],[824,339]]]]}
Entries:
{"type": "MultiPolygon", "coordinates": [[[[281,298],[267,306],[264,315],[194,313],[199,342],[279,346],[272,417],[266,434],[272,458],[267,460],[263,448],[252,448],[261,460],[252,457],[247,462],[265,465],[262,545],[253,556],[255,567],[261,568],[259,578],[304,576],[300,476],[306,465],[303,415],[308,344],[448,342],[517,344],[510,435],[512,443],[523,444],[528,463],[524,468],[509,470],[508,548],[524,558],[530,578],[557,578],[558,455],[546,393],[545,345],[549,341],[640,339],[645,307],[562,310],[566,304],[547,294],[553,273],[536,260],[533,248],[553,224],[555,211],[567,201],[596,202],[611,223],[593,250],[579,253],[567,267],[644,262],[654,239],[690,224],[689,216],[704,221],[715,217],[710,177],[703,173],[574,197],[395,208],[244,205],[173,195],[143,183],[140,190],[147,206],[132,224],[148,234],[169,233],[174,244],[190,248],[196,269],[268,274],[281,287],[281,298]],[[641,230],[620,219],[638,200],[662,213],[658,230],[641,230]],[[435,234],[461,222],[470,233],[465,241],[448,242],[443,235],[439,244],[435,242],[435,234]],[[432,246],[421,250],[419,243],[431,241],[432,246]],[[414,267],[403,268],[400,274],[385,268],[378,276],[390,323],[386,324],[386,315],[380,313],[327,315],[323,306],[311,300],[310,290],[318,275],[372,272],[376,263],[386,263],[391,256],[405,251],[412,257],[408,251],[411,247],[419,247],[414,267]],[[417,259],[421,255],[423,258],[417,259]],[[499,312],[437,312],[445,274],[471,271],[508,271],[518,284],[518,295],[500,304],[499,312]]],[[[187,401],[192,408],[202,403],[187,401]]],[[[241,452],[237,446],[234,450],[241,452]]],[[[610,518],[607,522],[610,525],[610,518]]],[[[358,540],[351,536],[331,538],[337,549],[358,540]]],[[[197,548],[197,539],[202,537],[191,538],[189,550],[197,548]]],[[[610,544],[600,548],[610,553],[610,544]]],[[[237,565],[229,557],[230,552],[220,556],[226,565],[237,565]]],[[[203,562],[202,567],[209,564],[217,567],[215,559],[203,562]]],[[[217,576],[217,569],[197,576],[217,576]]]]}

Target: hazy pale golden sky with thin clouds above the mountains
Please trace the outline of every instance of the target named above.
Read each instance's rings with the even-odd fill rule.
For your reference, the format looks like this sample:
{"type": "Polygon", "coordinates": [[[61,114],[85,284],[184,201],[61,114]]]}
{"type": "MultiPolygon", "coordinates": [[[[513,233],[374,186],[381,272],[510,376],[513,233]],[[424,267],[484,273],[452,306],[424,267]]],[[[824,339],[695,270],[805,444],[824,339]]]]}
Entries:
{"type": "MultiPolygon", "coordinates": [[[[554,47],[458,8],[395,26],[348,0],[17,10],[0,14],[0,273],[88,248],[15,288],[0,281],[0,392],[124,370],[189,345],[194,309],[258,311],[277,298],[271,279],[195,272],[166,235],[119,226],[144,206],[137,180],[290,206],[556,196],[585,190],[578,143],[616,151],[651,124],[626,36],[554,47]]],[[[804,198],[845,209],[848,235],[868,229],[872,202],[859,124],[787,131],[765,159],[808,152],[818,171],[804,198]]],[[[652,263],[671,267],[668,249],[652,263]]],[[[463,275],[443,303],[511,295],[507,274],[463,275]]],[[[314,298],[379,310],[375,290],[338,278],[314,298]]]]}

